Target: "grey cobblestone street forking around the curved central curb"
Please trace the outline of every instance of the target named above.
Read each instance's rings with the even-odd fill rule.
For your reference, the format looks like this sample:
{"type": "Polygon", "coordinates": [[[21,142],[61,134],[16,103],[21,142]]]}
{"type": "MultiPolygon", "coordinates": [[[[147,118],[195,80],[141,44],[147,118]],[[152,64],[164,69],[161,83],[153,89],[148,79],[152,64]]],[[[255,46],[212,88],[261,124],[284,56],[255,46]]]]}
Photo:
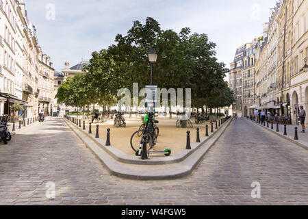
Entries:
{"type": "Polygon", "coordinates": [[[111,176],[60,118],[0,145],[1,205],[308,205],[307,151],[238,119],[194,173],[174,181],[111,176]],[[55,198],[47,199],[48,182],[55,198]],[[252,198],[251,183],[261,185],[252,198]]]}

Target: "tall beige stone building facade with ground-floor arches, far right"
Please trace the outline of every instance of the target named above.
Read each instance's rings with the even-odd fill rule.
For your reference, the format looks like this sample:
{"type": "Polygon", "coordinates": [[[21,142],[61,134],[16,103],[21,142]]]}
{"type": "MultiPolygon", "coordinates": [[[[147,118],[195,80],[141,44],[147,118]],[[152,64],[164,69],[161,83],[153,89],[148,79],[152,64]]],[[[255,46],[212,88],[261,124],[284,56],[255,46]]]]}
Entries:
{"type": "MultiPolygon", "coordinates": [[[[254,105],[287,116],[293,124],[297,122],[300,105],[308,110],[307,1],[277,2],[255,48],[254,105]]],[[[234,86],[231,88],[237,92],[234,86]]],[[[246,106],[236,103],[234,107],[246,106]]]]}

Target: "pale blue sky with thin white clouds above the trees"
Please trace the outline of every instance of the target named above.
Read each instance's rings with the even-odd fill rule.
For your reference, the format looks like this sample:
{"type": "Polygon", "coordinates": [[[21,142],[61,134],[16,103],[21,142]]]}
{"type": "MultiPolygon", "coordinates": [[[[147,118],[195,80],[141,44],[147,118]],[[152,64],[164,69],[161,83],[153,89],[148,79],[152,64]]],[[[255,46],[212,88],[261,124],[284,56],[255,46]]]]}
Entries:
{"type": "Polygon", "coordinates": [[[126,35],[133,21],[155,18],[162,29],[207,34],[229,68],[237,47],[262,34],[278,0],[25,0],[38,43],[57,71],[89,60],[93,51],[126,35]]]}

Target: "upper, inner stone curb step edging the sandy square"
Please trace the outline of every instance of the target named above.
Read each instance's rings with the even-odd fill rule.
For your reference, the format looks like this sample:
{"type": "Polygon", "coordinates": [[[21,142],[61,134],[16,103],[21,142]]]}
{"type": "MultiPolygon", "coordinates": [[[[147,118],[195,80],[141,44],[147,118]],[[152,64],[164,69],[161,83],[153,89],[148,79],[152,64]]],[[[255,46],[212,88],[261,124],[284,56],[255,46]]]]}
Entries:
{"type": "MultiPolygon", "coordinates": [[[[68,122],[69,125],[73,125],[73,127],[77,127],[75,124],[70,122],[70,120],[63,118],[66,122],[68,122]]],[[[229,119],[230,120],[230,119],[229,119]]],[[[188,156],[190,156],[194,151],[199,149],[205,142],[210,140],[213,136],[216,135],[216,133],[224,127],[224,125],[227,125],[227,120],[223,125],[220,125],[218,129],[215,129],[214,133],[211,133],[209,131],[209,137],[202,137],[200,143],[191,143],[192,150],[186,150],[183,149],[182,151],[179,151],[175,155],[172,155],[171,157],[149,157],[147,160],[142,160],[140,157],[127,155],[126,153],[123,153],[123,151],[120,151],[119,149],[116,149],[114,146],[105,146],[105,140],[102,138],[95,138],[94,133],[89,134],[88,130],[82,130],[79,129],[84,135],[88,136],[92,141],[94,141],[96,144],[101,146],[102,149],[104,149],[110,156],[112,156],[114,159],[116,159],[118,162],[125,163],[125,164],[142,164],[142,165],[157,165],[157,164],[175,164],[179,162],[183,162],[184,159],[186,159],[188,156]]],[[[210,128],[210,127],[209,127],[210,128]]],[[[95,132],[95,131],[93,131],[95,132]]],[[[183,148],[185,148],[185,145],[183,145],[183,148]]]]}

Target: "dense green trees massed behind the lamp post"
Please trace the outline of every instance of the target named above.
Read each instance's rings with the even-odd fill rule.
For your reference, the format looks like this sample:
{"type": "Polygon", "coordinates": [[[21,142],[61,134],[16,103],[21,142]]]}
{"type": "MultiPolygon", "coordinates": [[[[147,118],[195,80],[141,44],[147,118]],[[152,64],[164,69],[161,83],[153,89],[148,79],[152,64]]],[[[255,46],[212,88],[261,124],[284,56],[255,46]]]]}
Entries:
{"type": "Polygon", "coordinates": [[[191,88],[192,107],[228,107],[233,93],[224,81],[228,71],[216,59],[216,44],[206,34],[191,34],[183,28],[179,34],[163,30],[153,18],[142,25],[135,21],[126,36],[118,34],[115,44],[92,53],[87,74],[68,78],[58,89],[58,102],[86,108],[90,105],[114,105],[120,88],[144,88],[150,83],[151,66],[147,51],[155,45],[158,53],[154,81],[158,88],[191,88]]]}

